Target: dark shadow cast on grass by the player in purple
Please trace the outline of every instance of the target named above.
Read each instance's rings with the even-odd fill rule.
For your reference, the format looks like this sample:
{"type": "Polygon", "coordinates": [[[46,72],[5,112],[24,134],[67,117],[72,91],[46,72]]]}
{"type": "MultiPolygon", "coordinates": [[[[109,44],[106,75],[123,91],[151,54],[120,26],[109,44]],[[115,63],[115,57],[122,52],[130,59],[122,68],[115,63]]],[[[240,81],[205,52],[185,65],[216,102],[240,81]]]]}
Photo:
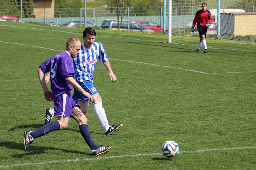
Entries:
{"type": "MultiPolygon", "coordinates": [[[[85,145],[85,147],[88,147],[86,144],[84,144],[84,145],[85,145]]],[[[15,142],[10,142],[10,141],[0,142],[0,147],[24,151],[23,143],[15,143],[15,142]]],[[[33,144],[30,145],[28,152],[24,151],[23,154],[14,154],[11,156],[13,158],[22,158],[23,156],[26,156],[26,155],[38,155],[38,154],[46,153],[45,151],[47,151],[47,150],[56,150],[56,151],[61,151],[61,152],[66,152],[66,153],[79,153],[79,154],[85,154],[85,155],[92,156],[91,153],[85,153],[85,152],[76,151],[76,150],[68,150],[68,149],[63,149],[63,148],[33,146],[33,144]]]]}

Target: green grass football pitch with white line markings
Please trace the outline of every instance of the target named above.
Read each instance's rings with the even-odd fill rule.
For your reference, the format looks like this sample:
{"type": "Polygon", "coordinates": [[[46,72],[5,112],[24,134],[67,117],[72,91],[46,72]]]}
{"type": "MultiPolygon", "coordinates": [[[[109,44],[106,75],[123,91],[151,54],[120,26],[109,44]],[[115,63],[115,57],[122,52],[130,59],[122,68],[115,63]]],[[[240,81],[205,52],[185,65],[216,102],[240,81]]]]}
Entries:
{"type": "MultiPolygon", "coordinates": [[[[92,104],[86,116],[96,144],[112,145],[97,158],[76,121],[35,139],[23,149],[23,131],[44,124],[37,68],[65,49],[83,29],[0,23],[0,168],[7,169],[255,169],[256,48],[199,38],[96,30],[114,73],[110,83],[98,62],[95,86],[109,124],[124,127],[105,136],[92,104]],[[201,47],[203,49],[203,47],[201,47]],[[161,146],[175,140],[180,154],[165,158],[161,146]]],[[[53,119],[56,120],[56,117],[53,119]]]]}

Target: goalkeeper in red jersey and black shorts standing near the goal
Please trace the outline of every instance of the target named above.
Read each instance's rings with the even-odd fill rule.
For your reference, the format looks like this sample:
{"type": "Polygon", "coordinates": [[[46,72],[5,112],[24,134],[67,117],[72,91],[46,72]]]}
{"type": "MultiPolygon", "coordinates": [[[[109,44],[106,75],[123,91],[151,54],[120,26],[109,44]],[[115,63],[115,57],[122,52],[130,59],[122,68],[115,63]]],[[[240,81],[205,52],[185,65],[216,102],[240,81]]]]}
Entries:
{"type": "Polygon", "coordinates": [[[210,27],[212,24],[212,14],[210,11],[206,10],[207,4],[205,2],[202,3],[202,10],[196,12],[196,16],[193,20],[192,24],[192,32],[195,32],[195,25],[197,23],[197,30],[199,32],[200,40],[197,44],[196,52],[200,52],[200,47],[204,45],[204,53],[207,53],[207,46],[206,46],[206,32],[207,28],[210,27]]]}

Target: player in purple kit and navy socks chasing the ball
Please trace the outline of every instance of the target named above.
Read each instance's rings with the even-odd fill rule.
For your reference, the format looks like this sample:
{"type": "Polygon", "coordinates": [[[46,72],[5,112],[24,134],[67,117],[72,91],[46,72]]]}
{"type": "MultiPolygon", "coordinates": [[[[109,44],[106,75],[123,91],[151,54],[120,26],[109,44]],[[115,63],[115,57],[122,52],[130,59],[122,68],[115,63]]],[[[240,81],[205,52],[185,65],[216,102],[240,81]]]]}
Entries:
{"type": "Polygon", "coordinates": [[[34,141],[34,139],[44,136],[52,131],[67,128],[71,112],[73,113],[72,118],[78,122],[80,132],[87,145],[89,145],[91,148],[93,155],[98,156],[104,154],[111,148],[111,145],[98,146],[93,142],[92,136],[87,127],[87,118],[82,113],[79,105],[73,100],[71,95],[72,85],[83,96],[92,101],[92,96],[84,91],[84,89],[73,78],[73,58],[80,53],[80,49],[80,40],[76,37],[71,37],[67,41],[66,50],[64,52],[55,54],[51,58],[47,59],[37,70],[40,84],[43,87],[45,100],[53,100],[55,116],[58,117],[58,120],[49,122],[36,131],[25,131],[25,151],[28,151],[29,145],[34,141]],[[46,86],[44,74],[47,72],[50,72],[52,92],[48,90],[46,86]]]}

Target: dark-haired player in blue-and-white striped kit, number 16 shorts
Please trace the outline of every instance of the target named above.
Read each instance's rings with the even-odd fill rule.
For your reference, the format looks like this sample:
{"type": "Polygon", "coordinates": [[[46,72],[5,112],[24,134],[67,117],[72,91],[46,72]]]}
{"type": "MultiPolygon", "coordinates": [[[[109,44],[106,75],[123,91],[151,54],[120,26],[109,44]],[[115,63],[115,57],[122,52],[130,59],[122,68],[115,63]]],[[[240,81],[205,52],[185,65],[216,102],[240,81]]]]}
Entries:
{"type": "MultiPolygon", "coordinates": [[[[74,71],[75,80],[82,88],[92,95],[93,109],[96,117],[100,121],[100,124],[104,130],[105,135],[110,135],[114,131],[118,131],[123,127],[123,124],[109,125],[108,119],[104,108],[102,107],[102,99],[93,85],[94,69],[96,62],[99,59],[104,64],[109,72],[111,82],[116,81],[116,75],[113,73],[110,63],[108,61],[107,53],[105,52],[100,42],[94,42],[96,36],[95,30],[92,28],[86,28],[83,31],[84,43],[81,46],[79,55],[74,58],[74,71]]],[[[86,114],[89,108],[89,99],[83,96],[78,90],[74,89],[73,99],[81,107],[81,110],[86,114]]],[[[47,124],[53,117],[54,110],[48,108],[45,110],[46,118],[44,123],[47,124]]]]}

